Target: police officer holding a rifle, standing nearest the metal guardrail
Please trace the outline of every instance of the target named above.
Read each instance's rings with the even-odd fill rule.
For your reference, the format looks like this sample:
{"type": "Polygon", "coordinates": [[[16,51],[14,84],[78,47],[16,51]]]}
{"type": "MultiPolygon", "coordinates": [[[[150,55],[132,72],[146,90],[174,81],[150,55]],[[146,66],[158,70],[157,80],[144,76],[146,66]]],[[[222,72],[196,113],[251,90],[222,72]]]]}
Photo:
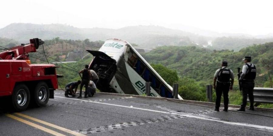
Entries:
{"type": "Polygon", "coordinates": [[[251,57],[244,57],[244,66],[242,69],[240,81],[242,86],[242,95],[243,95],[243,103],[241,108],[238,111],[245,112],[245,106],[247,105],[247,98],[250,101],[250,110],[254,110],[254,96],[253,96],[253,89],[254,89],[254,79],[256,78],[256,66],[251,63],[251,57]]]}

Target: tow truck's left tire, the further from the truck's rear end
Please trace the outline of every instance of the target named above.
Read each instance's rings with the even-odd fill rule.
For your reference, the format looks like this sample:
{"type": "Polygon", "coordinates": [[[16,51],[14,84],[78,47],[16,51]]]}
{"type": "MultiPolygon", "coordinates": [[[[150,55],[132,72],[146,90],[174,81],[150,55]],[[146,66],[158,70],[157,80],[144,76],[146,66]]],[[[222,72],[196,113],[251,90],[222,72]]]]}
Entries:
{"type": "Polygon", "coordinates": [[[25,111],[30,102],[29,88],[25,84],[18,84],[12,93],[12,105],[16,112],[25,111]]]}

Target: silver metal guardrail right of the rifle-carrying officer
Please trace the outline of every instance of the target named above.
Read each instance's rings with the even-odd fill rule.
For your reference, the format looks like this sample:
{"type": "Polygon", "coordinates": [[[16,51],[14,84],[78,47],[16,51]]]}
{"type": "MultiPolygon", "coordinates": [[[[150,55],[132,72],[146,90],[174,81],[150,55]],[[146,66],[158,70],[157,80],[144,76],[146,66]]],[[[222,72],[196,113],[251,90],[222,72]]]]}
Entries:
{"type": "Polygon", "coordinates": [[[273,88],[254,87],[253,95],[254,107],[257,107],[260,103],[273,103],[273,88]]]}

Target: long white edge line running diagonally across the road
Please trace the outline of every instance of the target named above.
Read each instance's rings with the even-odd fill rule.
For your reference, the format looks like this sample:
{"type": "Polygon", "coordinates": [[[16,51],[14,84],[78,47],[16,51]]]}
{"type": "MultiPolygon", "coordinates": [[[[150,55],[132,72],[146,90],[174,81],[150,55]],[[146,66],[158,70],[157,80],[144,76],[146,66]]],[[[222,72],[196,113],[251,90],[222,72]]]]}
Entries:
{"type": "MultiPolygon", "coordinates": [[[[82,99],[74,99],[74,98],[67,98],[67,97],[60,97],[60,96],[54,96],[54,97],[64,98],[64,99],[72,99],[72,100],[83,101],[83,102],[92,102],[92,101],[87,101],[87,100],[82,100],[82,99]]],[[[247,124],[247,123],[240,123],[240,122],[229,122],[229,121],[205,118],[205,117],[200,117],[200,116],[177,114],[177,113],[171,113],[171,112],[163,112],[163,111],[151,110],[151,109],[146,109],[146,108],[136,108],[136,107],[133,107],[133,106],[123,106],[123,105],[116,105],[116,104],[110,104],[110,103],[101,103],[101,102],[92,102],[92,103],[111,105],[111,106],[118,106],[118,107],[124,107],[124,108],[133,108],[133,109],[139,109],[139,110],[150,111],[150,112],[159,112],[159,113],[165,113],[165,114],[171,114],[171,115],[180,115],[180,116],[189,117],[189,118],[197,118],[197,119],[202,119],[202,120],[207,120],[207,121],[220,122],[220,123],[224,123],[224,124],[228,124],[228,125],[236,125],[236,126],[241,126],[241,127],[254,128],[254,129],[258,129],[258,130],[262,130],[262,131],[273,132],[273,127],[268,127],[268,126],[261,126],[261,125],[254,125],[254,124],[247,124]]]]}

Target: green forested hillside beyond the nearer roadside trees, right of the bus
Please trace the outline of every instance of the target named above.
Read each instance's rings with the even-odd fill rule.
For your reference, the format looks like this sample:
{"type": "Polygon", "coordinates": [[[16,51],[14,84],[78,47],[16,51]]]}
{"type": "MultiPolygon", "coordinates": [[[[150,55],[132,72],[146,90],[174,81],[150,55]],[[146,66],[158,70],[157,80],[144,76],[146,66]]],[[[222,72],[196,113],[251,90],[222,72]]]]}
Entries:
{"type": "MultiPolygon", "coordinates": [[[[237,67],[242,67],[244,56],[251,56],[252,62],[258,67],[257,83],[264,86],[267,79],[267,70],[262,63],[262,59],[271,62],[273,66],[273,43],[254,45],[241,49],[239,52],[230,50],[208,50],[195,46],[158,47],[149,53],[143,54],[143,57],[149,63],[160,63],[168,68],[177,70],[180,77],[195,79],[211,83],[213,74],[221,66],[222,60],[228,61],[228,67],[236,72],[237,67]]],[[[273,69],[270,71],[273,73],[273,69]]]]}

